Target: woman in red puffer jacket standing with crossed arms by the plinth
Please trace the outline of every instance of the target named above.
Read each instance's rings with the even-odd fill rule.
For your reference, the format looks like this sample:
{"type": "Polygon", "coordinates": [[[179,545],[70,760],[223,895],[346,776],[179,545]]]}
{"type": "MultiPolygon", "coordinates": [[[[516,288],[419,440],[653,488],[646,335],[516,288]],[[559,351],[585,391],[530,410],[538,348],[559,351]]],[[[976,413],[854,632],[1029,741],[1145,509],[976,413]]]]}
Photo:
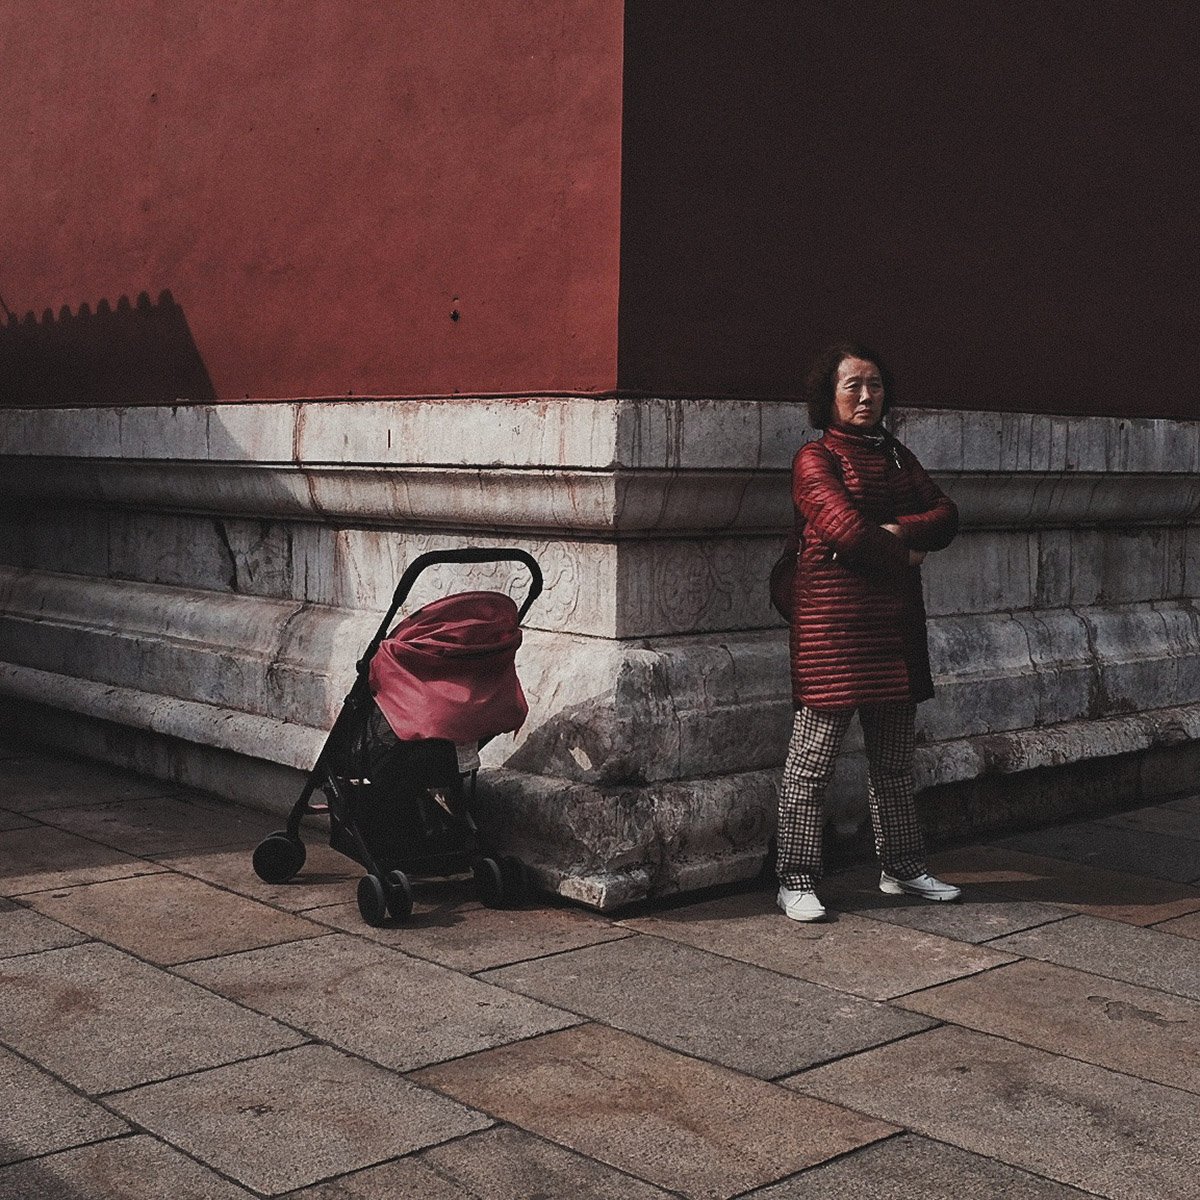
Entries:
{"type": "Polygon", "coordinates": [[[912,774],[916,706],[934,694],[920,563],[958,530],[953,502],[881,421],[892,377],[853,342],[829,347],[805,380],[824,434],[792,472],[799,552],[792,588],[796,720],[779,796],[779,907],[821,920],[824,793],[858,713],[880,890],[956,900],[925,870],[912,774]]]}

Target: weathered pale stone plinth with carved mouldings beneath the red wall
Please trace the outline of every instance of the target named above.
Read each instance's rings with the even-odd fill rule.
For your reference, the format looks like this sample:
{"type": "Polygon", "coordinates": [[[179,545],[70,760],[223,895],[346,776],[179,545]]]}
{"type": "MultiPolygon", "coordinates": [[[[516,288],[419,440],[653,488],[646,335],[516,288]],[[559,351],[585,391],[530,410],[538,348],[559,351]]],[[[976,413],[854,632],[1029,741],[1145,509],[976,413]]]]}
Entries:
{"type": "MultiPolygon", "coordinates": [[[[896,432],[964,514],[925,570],[935,824],[955,788],[1195,745],[1200,427],[913,412],[896,432]]],[[[752,875],[791,714],[766,578],[809,436],[799,406],[742,401],[8,412],[2,715],[284,810],[404,565],[520,546],[546,590],[518,658],[529,720],[485,751],[498,838],[598,907],[752,875]]],[[[439,566],[406,610],[524,583],[439,566]]],[[[853,748],[835,791],[846,832],[853,748]]]]}

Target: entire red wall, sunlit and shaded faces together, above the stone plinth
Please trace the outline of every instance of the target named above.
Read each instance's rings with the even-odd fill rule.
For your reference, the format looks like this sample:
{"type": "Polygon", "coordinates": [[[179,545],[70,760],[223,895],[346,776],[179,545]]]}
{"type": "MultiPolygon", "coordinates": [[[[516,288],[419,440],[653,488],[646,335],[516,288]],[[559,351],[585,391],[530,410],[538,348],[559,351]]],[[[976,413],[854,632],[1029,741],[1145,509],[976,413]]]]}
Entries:
{"type": "Polygon", "coordinates": [[[1200,6],[0,20],[0,402],[793,396],[848,334],[906,403],[1194,413],[1200,6]]]}

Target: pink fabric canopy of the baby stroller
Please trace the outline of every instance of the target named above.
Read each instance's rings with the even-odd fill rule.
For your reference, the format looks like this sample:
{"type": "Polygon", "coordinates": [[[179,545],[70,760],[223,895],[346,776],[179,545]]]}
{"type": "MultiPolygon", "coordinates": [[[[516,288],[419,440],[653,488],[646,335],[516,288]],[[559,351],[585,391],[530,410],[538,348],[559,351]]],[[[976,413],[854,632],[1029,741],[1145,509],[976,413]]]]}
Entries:
{"type": "Polygon", "coordinates": [[[526,703],[514,659],[517,606],[499,592],[460,592],[402,620],[371,660],[371,695],[403,742],[479,742],[518,730],[526,703]]]}

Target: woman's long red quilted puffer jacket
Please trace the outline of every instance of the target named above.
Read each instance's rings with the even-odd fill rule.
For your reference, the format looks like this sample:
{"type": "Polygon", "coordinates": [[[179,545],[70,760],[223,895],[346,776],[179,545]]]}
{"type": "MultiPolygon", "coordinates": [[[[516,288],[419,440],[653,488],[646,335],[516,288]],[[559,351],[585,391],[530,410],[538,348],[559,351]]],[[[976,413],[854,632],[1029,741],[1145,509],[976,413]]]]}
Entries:
{"type": "Polygon", "coordinates": [[[792,610],[797,707],[851,708],[934,694],[920,569],[908,550],[942,550],[959,514],[890,434],[836,427],[792,468],[800,553],[792,610]],[[898,524],[904,540],[882,529],[898,524]]]}

